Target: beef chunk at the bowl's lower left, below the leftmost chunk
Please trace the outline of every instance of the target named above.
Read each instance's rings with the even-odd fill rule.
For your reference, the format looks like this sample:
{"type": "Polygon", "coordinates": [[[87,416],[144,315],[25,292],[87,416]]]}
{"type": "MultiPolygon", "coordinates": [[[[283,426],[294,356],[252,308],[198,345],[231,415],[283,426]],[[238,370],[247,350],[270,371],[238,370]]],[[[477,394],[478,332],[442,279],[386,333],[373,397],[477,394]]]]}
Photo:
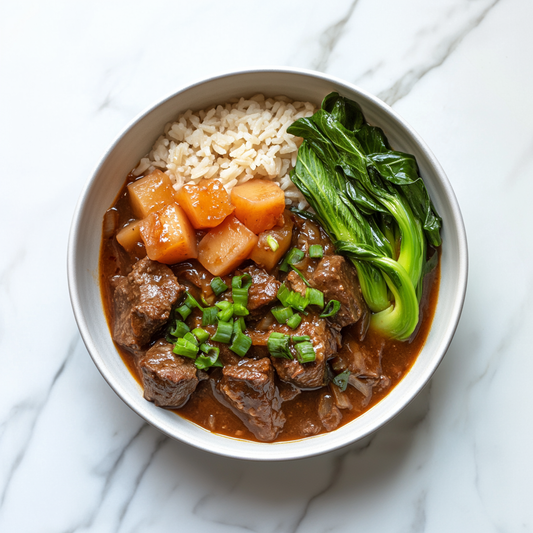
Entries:
{"type": "Polygon", "coordinates": [[[144,397],[158,407],[182,407],[198,385],[194,361],[174,355],[172,344],[157,341],[139,360],[144,397]]]}

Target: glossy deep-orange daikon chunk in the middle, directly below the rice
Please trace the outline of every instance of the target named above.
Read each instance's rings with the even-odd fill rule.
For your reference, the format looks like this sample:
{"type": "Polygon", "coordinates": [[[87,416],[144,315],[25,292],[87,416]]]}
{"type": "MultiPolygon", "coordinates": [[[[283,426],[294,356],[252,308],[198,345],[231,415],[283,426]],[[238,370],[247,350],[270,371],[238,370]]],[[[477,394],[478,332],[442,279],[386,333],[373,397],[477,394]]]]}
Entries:
{"type": "Polygon", "coordinates": [[[235,209],[217,179],[202,180],[198,185],[186,183],[176,193],[176,200],[195,229],[214,228],[235,209]]]}

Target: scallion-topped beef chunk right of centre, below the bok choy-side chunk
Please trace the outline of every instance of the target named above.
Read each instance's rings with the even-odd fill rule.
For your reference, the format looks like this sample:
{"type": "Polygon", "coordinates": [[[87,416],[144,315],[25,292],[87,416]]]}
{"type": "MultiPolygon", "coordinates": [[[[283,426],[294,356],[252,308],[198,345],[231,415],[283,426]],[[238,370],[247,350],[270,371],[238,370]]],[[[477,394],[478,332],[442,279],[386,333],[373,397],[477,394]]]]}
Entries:
{"type": "Polygon", "coordinates": [[[330,328],[325,319],[313,312],[303,317],[296,330],[287,326],[278,327],[276,330],[287,335],[308,335],[316,354],[315,361],[300,363],[296,358],[296,350],[291,347],[294,359],[272,357],[272,364],[279,378],[301,389],[322,387],[326,382],[326,361],[337,352],[339,332],[330,328]]]}

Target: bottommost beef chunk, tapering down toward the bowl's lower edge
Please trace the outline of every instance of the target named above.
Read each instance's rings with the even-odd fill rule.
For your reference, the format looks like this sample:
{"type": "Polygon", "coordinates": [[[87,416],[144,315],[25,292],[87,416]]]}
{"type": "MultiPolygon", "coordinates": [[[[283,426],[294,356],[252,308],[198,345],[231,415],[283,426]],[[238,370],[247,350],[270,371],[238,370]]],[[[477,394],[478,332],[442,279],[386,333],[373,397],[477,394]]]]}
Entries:
{"type": "Polygon", "coordinates": [[[283,428],[285,416],[274,384],[274,370],[267,358],[242,359],[225,366],[214,387],[221,403],[227,405],[258,440],[270,442],[283,428]]]}

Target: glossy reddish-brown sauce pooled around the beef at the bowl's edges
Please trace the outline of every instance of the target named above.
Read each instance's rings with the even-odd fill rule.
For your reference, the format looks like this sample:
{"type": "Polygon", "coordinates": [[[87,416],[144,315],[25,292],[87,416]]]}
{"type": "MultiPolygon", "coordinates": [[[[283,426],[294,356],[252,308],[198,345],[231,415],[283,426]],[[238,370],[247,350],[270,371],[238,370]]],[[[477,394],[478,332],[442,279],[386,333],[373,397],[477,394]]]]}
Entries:
{"type": "MultiPolygon", "coordinates": [[[[128,176],[126,184],[120,191],[112,208],[106,214],[107,221],[113,222],[110,226],[114,226],[116,228],[115,231],[106,232],[106,220],[104,220],[99,276],[102,300],[110,329],[114,320],[112,303],[114,288],[112,278],[116,275],[125,275],[129,273],[132,265],[145,255],[145,251],[142,247],[139,247],[134,253],[128,254],[118,244],[115,238],[116,231],[121,229],[126,223],[134,218],[131,213],[126,193],[127,183],[134,179],[136,178],[131,175],[128,176]]],[[[416,358],[422,350],[429,334],[437,306],[440,282],[440,249],[438,250],[438,253],[439,263],[437,268],[426,275],[424,279],[424,291],[420,303],[419,327],[411,339],[406,342],[385,339],[373,331],[369,331],[366,335],[364,344],[370,349],[377,351],[384,343],[381,361],[382,374],[390,379],[390,386],[381,390],[376,390],[375,387],[368,403],[365,403],[365,399],[359,391],[353,387],[348,387],[346,389],[346,394],[348,394],[353,408],[351,410],[341,410],[342,421],[339,424],[339,427],[347,424],[372,406],[376,405],[376,403],[383,399],[401,381],[416,361],[416,358]]],[[[349,334],[349,331],[347,330],[349,330],[349,328],[343,330],[343,337],[346,334],[349,334]]],[[[118,345],[116,345],[116,348],[132,376],[137,380],[139,385],[142,386],[142,382],[135,366],[134,356],[118,345]]],[[[322,391],[323,388],[312,391],[303,391],[293,400],[283,404],[282,410],[287,420],[276,441],[300,439],[302,438],[303,431],[308,435],[326,432],[320,422],[317,409],[322,391]]],[[[214,398],[209,381],[200,382],[195,393],[191,396],[185,406],[175,412],[191,422],[215,433],[220,433],[229,437],[257,441],[253,433],[246,428],[242,421],[214,398]]]]}

